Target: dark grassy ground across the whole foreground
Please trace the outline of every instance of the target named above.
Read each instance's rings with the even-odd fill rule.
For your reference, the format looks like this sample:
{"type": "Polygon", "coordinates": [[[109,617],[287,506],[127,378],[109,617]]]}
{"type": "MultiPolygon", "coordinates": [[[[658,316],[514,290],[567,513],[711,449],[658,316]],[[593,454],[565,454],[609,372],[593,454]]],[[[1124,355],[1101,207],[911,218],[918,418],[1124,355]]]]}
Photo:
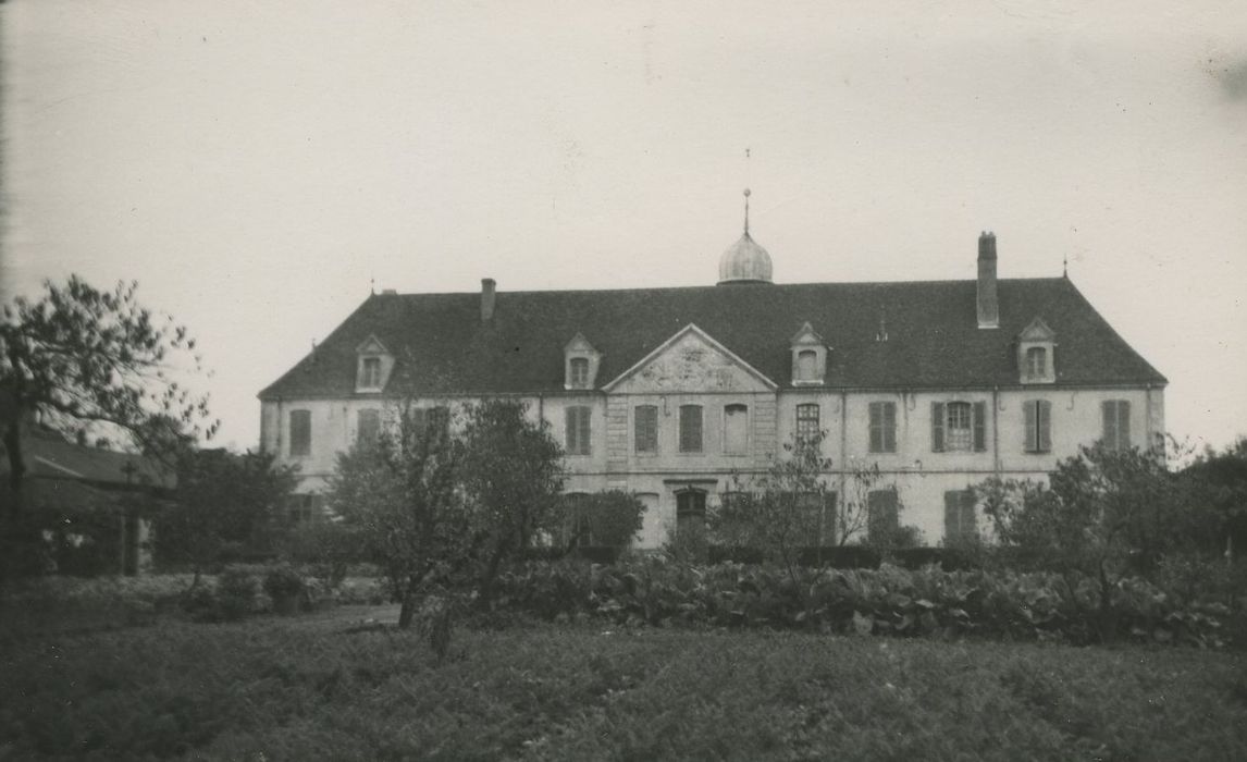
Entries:
{"type": "Polygon", "coordinates": [[[1247,758],[1241,653],[541,625],[439,662],[377,611],[10,635],[0,761],[1247,758]]]}

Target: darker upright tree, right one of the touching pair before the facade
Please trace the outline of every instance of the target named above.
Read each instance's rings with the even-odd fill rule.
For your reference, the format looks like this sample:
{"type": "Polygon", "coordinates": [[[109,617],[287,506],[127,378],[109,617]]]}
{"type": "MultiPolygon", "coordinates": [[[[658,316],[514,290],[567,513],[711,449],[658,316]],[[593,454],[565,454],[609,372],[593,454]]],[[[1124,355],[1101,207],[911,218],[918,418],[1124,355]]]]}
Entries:
{"type": "Polygon", "coordinates": [[[508,399],[468,408],[463,430],[463,490],[474,529],[473,551],[481,605],[503,564],[557,531],[564,484],[562,448],[550,424],[508,399]]]}

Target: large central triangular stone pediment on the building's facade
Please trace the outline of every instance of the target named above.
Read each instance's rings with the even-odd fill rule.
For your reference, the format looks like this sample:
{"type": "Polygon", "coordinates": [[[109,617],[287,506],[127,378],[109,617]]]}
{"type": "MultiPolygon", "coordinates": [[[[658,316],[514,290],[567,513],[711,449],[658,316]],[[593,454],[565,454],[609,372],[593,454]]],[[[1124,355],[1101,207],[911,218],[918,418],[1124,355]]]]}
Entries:
{"type": "Polygon", "coordinates": [[[604,387],[611,393],[773,392],[776,383],[690,323],[604,387]]]}

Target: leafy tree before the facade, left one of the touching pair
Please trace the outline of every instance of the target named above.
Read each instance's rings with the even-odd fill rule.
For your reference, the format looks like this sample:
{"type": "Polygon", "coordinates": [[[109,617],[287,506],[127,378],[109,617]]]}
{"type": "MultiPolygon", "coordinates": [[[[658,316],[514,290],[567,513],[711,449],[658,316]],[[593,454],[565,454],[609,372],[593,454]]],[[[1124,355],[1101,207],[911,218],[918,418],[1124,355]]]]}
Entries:
{"type": "Polygon", "coordinates": [[[412,626],[419,596],[449,584],[473,552],[473,516],[458,489],[461,444],[446,428],[425,425],[410,405],[398,430],[338,455],[329,508],[380,566],[402,604],[399,627],[412,626]]]}

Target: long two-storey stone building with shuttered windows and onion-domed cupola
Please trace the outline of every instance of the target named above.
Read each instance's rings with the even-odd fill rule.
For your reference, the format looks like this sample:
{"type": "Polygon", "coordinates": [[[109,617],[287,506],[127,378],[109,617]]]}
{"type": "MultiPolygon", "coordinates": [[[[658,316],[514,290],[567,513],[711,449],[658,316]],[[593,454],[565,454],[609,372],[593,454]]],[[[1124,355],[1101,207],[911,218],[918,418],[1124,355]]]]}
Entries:
{"type": "Polygon", "coordinates": [[[975,530],[966,489],[1042,479],[1079,445],[1150,446],[1165,378],[1065,277],[772,282],[748,232],[691,288],[373,294],[261,392],[262,446],[314,510],[335,454],[398,400],[430,417],[513,397],[566,449],[569,493],[624,489],[660,546],[783,444],[826,432],[828,485],[878,465],[870,501],[925,544],[975,530]]]}

